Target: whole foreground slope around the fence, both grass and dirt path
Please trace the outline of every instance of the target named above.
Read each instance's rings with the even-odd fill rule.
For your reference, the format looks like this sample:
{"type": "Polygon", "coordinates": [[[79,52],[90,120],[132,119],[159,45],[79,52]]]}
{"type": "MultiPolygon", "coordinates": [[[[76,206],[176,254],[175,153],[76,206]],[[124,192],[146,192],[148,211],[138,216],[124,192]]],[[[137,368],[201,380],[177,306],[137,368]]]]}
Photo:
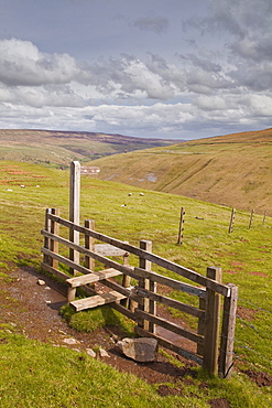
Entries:
{"type": "MultiPolygon", "coordinates": [[[[165,350],[149,364],[123,357],[115,342],[131,336],[133,325],[113,309],[68,314],[65,308],[69,326],[61,319],[67,288],[61,298],[59,280],[41,270],[41,229],[47,207],[68,217],[68,171],[0,161],[0,202],[1,408],[271,408],[271,217],[263,225],[257,215],[249,229],[250,214],[237,212],[229,234],[228,207],[81,178],[81,225],[95,219],[97,232],[135,246],[140,239],[152,240],[154,254],[202,275],[211,265],[221,267],[222,282],[239,287],[235,366],[232,376],[221,379],[165,350]],[[182,206],[186,222],[181,246],[176,241],[182,206]],[[37,279],[46,284],[37,284],[37,279]],[[109,356],[94,358],[87,353],[99,347],[109,356]]],[[[131,257],[130,265],[138,266],[139,259],[131,257]]],[[[155,272],[161,269],[152,264],[155,272]]],[[[198,298],[183,291],[165,293],[161,284],[157,293],[199,304],[198,298]]],[[[157,315],[197,330],[195,316],[172,308],[165,311],[160,302],[157,315]]],[[[188,345],[186,339],[179,341],[188,345]]]]}

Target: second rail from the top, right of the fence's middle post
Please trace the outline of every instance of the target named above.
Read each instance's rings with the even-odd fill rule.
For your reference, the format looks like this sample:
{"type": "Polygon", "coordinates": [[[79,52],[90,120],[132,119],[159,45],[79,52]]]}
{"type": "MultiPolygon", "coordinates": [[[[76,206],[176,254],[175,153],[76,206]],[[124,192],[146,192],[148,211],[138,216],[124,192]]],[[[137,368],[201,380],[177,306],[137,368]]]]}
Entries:
{"type": "Polygon", "coordinates": [[[149,278],[150,280],[153,280],[157,283],[165,284],[167,287],[171,287],[171,288],[176,289],[176,290],[181,290],[181,291],[189,293],[189,294],[194,294],[194,296],[202,297],[202,298],[204,298],[206,296],[206,290],[205,289],[197,288],[197,287],[194,287],[192,284],[181,282],[179,280],[176,280],[176,279],[164,277],[164,276],[159,275],[159,273],[153,272],[153,271],[146,271],[144,269],[134,268],[134,273],[138,277],[149,278]]]}

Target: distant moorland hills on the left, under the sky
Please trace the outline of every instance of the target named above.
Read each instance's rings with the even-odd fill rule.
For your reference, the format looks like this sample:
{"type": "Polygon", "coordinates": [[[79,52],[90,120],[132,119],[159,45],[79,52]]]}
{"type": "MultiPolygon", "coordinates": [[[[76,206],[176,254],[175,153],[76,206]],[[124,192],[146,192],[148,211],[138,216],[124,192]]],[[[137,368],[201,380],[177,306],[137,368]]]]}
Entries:
{"type": "Polygon", "coordinates": [[[0,160],[66,167],[72,160],[84,162],[174,142],[83,131],[0,129],[0,160]]]}

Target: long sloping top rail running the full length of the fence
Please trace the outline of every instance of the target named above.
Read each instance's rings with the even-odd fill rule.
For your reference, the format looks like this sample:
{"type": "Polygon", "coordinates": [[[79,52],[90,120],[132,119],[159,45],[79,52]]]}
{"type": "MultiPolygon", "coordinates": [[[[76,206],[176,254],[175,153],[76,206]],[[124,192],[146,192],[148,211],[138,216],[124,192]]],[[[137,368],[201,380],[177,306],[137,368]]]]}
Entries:
{"type": "Polygon", "coordinates": [[[184,268],[181,265],[177,265],[175,262],[171,262],[167,259],[164,259],[155,254],[148,253],[141,248],[138,248],[133,245],[123,243],[121,240],[108,237],[107,235],[97,233],[95,230],[86,229],[81,227],[80,225],[75,225],[70,223],[67,219],[56,217],[53,214],[48,214],[50,219],[54,219],[57,223],[65,225],[66,227],[74,228],[75,230],[78,230],[81,234],[87,234],[89,236],[93,236],[95,239],[101,240],[107,244],[111,244],[118,248],[121,248],[130,254],[137,255],[139,257],[145,258],[146,260],[150,260],[153,264],[156,264],[167,270],[171,270],[172,272],[175,272],[177,275],[181,275],[196,283],[199,283],[202,286],[205,286],[207,288],[214,289],[218,293],[221,293],[224,296],[229,296],[229,288],[226,284],[217,283],[213,279],[209,279],[198,272],[195,272],[194,270],[191,270],[188,268],[184,268]]]}

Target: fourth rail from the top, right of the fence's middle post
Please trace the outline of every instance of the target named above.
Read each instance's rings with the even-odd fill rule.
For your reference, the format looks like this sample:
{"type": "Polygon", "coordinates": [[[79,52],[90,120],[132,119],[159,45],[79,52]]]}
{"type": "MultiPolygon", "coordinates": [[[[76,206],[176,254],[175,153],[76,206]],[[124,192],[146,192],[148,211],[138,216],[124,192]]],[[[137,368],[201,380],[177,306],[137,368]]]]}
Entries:
{"type": "Polygon", "coordinates": [[[203,343],[203,336],[196,333],[193,333],[186,329],[183,329],[176,323],[170,323],[167,320],[163,318],[154,316],[153,314],[146,313],[140,309],[135,309],[135,314],[139,315],[140,319],[145,319],[152,323],[155,323],[171,332],[174,332],[185,339],[191,340],[192,342],[200,343],[200,344],[203,343]]]}

